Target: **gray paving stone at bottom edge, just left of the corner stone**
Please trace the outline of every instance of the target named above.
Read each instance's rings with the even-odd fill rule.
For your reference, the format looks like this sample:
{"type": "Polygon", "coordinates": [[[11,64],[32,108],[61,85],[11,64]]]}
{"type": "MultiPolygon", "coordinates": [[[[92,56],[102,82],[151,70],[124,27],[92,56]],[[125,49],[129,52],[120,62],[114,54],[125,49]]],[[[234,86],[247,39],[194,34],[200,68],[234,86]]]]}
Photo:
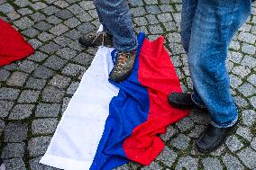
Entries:
{"type": "Polygon", "coordinates": [[[244,167],[242,166],[241,162],[237,157],[233,157],[229,154],[224,155],[222,157],[224,165],[228,170],[242,170],[244,167]]]}

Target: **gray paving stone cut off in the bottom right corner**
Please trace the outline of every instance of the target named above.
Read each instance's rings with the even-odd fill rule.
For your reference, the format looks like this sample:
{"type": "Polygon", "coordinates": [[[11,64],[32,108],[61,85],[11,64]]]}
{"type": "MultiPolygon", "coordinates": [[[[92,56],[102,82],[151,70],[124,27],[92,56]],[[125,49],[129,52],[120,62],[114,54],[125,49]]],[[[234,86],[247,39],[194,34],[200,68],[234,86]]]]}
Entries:
{"type": "Polygon", "coordinates": [[[237,155],[245,166],[251,169],[256,168],[256,152],[251,148],[242,149],[237,155]]]}

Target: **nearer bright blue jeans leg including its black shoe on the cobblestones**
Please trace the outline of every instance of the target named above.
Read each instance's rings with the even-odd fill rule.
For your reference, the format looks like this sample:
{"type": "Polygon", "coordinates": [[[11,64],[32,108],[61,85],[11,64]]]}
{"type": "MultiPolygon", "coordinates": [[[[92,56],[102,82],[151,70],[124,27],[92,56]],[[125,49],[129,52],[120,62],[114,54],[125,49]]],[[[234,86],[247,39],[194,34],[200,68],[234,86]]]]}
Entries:
{"type": "Polygon", "coordinates": [[[211,125],[197,140],[210,152],[224,142],[238,119],[225,67],[234,33],[251,12],[251,0],[198,0],[188,48],[188,67],[197,94],[211,115],[211,125]]]}

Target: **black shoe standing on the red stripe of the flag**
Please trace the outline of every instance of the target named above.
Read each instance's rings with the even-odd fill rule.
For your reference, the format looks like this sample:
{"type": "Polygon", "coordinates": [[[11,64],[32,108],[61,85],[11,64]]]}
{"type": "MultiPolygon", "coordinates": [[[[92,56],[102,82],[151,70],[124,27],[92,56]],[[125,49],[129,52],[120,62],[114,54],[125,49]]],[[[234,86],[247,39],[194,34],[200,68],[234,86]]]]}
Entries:
{"type": "Polygon", "coordinates": [[[171,93],[168,96],[169,104],[178,109],[200,108],[191,99],[191,94],[171,93]]]}

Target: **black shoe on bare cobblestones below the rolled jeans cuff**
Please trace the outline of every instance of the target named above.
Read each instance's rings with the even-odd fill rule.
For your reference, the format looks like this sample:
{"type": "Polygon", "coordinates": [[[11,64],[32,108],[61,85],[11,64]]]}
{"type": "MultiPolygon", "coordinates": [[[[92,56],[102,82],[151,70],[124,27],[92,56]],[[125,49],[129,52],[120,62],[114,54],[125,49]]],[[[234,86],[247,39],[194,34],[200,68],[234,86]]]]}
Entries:
{"type": "Polygon", "coordinates": [[[199,139],[197,139],[197,150],[202,153],[210,153],[219,148],[235,126],[236,124],[229,128],[216,128],[211,124],[208,125],[199,139]]]}

